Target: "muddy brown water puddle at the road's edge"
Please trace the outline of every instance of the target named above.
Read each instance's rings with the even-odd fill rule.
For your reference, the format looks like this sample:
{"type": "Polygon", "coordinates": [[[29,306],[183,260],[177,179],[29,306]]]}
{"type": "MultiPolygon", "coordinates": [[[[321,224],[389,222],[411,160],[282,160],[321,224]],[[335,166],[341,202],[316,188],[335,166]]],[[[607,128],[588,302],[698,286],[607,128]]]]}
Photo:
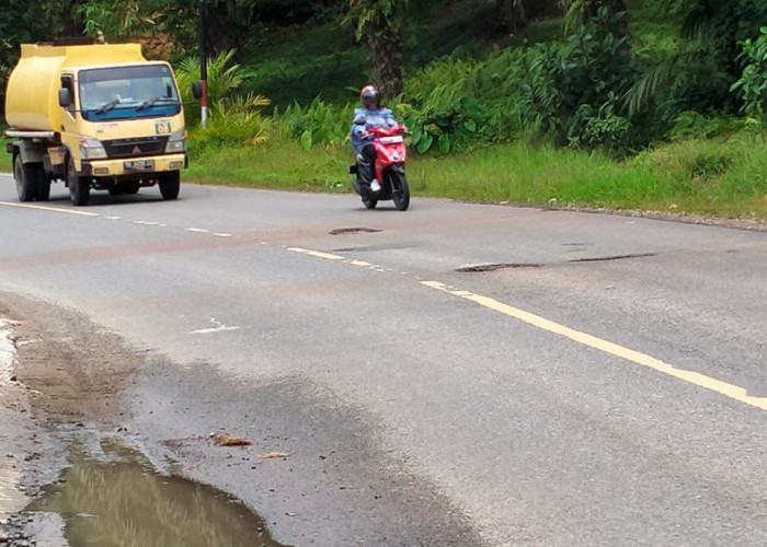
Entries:
{"type": "Polygon", "coordinates": [[[71,547],[278,547],[265,523],[225,492],[154,473],[144,456],[104,443],[106,456],[71,450],[61,482],[27,511],[53,511],[67,523],[71,547]]]}

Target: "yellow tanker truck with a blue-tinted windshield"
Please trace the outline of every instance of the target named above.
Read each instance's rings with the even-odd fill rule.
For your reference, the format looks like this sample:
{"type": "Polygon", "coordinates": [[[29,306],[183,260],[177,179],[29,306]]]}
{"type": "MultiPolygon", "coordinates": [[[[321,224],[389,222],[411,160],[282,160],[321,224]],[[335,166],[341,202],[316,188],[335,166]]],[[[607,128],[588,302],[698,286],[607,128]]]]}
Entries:
{"type": "Polygon", "coordinates": [[[159,186],[179,197],[184,112],[173,70],[140,44],[22,44],[5,89],[5,136],[21,201],[46,201],[61,181],[76,206],[91,190],[159,186]]]}

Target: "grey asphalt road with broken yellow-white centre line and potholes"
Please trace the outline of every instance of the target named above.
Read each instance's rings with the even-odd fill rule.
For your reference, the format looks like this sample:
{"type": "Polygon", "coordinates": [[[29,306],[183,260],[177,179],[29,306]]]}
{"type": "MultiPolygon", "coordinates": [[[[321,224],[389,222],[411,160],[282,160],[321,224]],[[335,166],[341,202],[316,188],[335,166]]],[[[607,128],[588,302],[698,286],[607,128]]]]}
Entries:
{"type": "Polygon", "coordinates": [[[0,290],[147,350],[134,439],[285,544],[767,544],[765,233],[0,175],[0,290]]]}

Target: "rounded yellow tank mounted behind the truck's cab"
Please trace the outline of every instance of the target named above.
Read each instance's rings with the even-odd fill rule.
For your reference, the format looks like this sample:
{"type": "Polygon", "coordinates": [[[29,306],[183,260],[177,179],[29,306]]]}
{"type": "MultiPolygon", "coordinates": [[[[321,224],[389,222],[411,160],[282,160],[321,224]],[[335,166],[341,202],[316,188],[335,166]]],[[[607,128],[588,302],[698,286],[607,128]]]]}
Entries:
{"type": "Polygon", "coordinates": [[[5,120],[18,130],[58,131],[61,73],[129,62],[146,62],[140,44],[22,44],[5,88],[5,120]]]}

